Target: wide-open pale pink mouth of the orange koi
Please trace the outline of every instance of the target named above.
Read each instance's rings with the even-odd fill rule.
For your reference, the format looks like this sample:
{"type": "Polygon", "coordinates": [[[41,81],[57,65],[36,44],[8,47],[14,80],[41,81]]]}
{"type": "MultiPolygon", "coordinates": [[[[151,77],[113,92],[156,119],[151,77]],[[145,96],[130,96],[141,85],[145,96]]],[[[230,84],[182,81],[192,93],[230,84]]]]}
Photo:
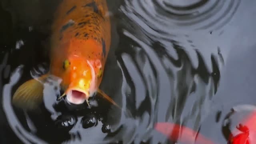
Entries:
{"type": "Polygon", "coordinates": [[[80,90],[70,90],[67,93],[67,100],[72,104],[82,104],[88,100],[88,95],[80,90]]]}

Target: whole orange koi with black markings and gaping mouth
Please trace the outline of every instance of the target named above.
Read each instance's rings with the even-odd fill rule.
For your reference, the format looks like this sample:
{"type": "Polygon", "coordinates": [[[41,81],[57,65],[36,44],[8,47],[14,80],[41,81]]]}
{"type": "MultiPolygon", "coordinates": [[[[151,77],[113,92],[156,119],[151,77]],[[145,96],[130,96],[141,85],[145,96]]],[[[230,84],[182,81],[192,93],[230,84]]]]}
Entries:
{"type": "Polygon", "coordinates": [[[42,82],[53,75],[62,79],[62,96],[72,104],[88,103],[99,93],[118,106],[99,89],[111,42],[107,12],[106,0],[62,0],[52,24],[50,70],[22,84],[13,103],[27,109],[38,106],[43,99],[42,82]]]}

